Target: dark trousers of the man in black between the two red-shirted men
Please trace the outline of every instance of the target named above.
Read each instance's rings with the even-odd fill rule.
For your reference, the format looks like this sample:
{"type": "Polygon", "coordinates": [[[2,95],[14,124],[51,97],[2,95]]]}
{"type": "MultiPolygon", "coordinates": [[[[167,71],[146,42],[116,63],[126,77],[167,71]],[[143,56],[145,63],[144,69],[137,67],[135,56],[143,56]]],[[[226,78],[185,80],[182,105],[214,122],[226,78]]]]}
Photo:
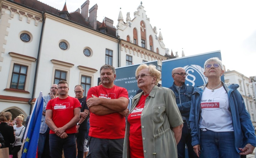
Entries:
{"type": "Polygon", "coordinates": [[[84,158],[84,139],[85,139],[86,132],[87,132],[87,129],[79,130],[79,132],[76,133],[77,158],[84,158]]]}

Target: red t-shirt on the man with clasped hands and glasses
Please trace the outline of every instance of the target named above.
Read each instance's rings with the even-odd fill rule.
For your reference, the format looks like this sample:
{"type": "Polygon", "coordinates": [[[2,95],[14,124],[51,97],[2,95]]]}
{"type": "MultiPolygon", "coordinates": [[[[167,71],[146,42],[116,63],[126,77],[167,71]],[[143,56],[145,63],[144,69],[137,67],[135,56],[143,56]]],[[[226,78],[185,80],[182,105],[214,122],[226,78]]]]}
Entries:
{"type": "MultiPolygon", "coordinates": [[[[68,96],[66,99],[59,97],[48,101],[46,110],[53,110],[53,123],[59,128],[63,127],[74,117],[74,109],[81,108],[81,104],[77,98],[68,96]]],[[[75,125],[66,129],[66,133],[76,133],[75,125]]],[[[50,134],[55,134],[50,130],[50,134]]]]}

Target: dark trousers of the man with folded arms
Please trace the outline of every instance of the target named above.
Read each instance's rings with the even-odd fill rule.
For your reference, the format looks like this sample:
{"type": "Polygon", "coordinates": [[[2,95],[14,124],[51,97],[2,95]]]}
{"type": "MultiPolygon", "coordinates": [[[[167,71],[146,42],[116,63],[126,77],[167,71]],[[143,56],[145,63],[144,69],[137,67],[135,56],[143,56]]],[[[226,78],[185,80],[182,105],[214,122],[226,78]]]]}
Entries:
{"type": "Polygon", "coordinates": [[[122,158],[123,142],[124,138],[100,139],[89,136],[87,143],[89,145],[89,152],[87,158],[122,158]]]}

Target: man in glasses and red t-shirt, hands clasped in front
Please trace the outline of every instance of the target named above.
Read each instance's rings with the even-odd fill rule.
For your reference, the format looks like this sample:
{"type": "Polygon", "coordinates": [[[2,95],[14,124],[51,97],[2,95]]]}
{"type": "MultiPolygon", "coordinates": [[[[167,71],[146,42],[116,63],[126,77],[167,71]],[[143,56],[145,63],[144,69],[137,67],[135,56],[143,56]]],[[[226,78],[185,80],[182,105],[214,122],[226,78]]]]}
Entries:
{"type": "Polygon", "coordinates": [[[48,101],[46,107],[45,123],[50,128],[50,154],[54,158],[62,158],[62,150],[65,157],[76,157],[75,125],[80,120],[81,104],[68,96],[68,86],[66,81],[59,81],[59,97],[48,101]]]}

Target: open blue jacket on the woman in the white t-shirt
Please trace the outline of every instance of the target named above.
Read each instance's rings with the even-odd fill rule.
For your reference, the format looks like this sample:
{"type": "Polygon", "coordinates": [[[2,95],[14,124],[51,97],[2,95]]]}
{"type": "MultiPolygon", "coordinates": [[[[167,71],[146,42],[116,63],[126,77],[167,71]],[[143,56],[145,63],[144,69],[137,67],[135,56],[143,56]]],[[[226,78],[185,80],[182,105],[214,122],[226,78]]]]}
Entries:
{"type": "MultiPolygon", "coordinates": [[[[223,83],[223,82],[222,82],[223,83]]],[[[242,95],[238,92],[238,84],[223,83],[224,89],[227,91],[232,124],[234,128],[235,135],[235,148],[238,153],[240,153],[238,148],[244,148],[246,144],[251,144],[256,146],[256,136],[254,134],[254,127],[251,123],[251,118],[247,110],[245,109],[244,99],[242,95]]],[[[192,105],[190,110],[190,127],[192,136],[192,146],[200,144],[200,102],[203,93],[203,89],[206,84],[195,88],[192,96],[192,105]]],[[[201,147],[203,149],[203,147],[201,147]]]]}

